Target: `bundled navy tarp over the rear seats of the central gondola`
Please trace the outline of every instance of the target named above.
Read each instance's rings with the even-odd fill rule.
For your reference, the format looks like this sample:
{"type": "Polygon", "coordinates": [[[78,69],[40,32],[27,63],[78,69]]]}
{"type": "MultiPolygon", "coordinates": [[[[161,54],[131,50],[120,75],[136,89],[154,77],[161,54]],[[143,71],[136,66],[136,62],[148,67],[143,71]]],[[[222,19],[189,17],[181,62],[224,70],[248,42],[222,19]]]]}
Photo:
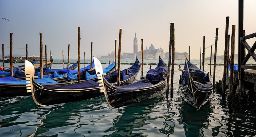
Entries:
{"type": "Polygon", "coordinates": [[[161,81],[164,80],[166,75],[167,71],[164,68],[150,69],[146,74],[146,79],[149,81],[161,81]]]}

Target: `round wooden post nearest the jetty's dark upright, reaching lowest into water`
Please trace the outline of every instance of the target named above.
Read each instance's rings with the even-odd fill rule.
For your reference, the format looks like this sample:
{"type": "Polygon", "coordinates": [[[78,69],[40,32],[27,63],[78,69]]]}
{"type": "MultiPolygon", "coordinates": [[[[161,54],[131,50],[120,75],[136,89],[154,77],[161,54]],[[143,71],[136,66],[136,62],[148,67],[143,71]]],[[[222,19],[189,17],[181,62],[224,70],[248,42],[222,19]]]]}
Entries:
{"type": "Polygon", "coordinates": [[[232,111],[233,111],[235,33],[236,33],[236,25],[232,25],[231,53],[230,53],[231,56],[230,56],[229,103],[228,103],[228,108],[229,108],[230,113],[232,113],[232,111]]]}

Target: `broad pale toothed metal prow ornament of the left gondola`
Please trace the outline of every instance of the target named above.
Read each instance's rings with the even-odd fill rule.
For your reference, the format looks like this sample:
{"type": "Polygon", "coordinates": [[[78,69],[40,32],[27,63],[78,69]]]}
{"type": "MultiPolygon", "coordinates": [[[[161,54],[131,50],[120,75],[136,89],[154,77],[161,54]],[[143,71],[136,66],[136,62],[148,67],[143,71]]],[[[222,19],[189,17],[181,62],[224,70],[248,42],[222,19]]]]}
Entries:
{"type": "Polygon", "coordinates": [[[28,60],[25,60],[25,75],[26,75],[26,86],[27,86],[27,92],[33,92],[33,83],[32,83],[32,78],[37,78],[37,76],[35,76],[35,68],[33,66],[32,63],[30,63],[28,60]]]}

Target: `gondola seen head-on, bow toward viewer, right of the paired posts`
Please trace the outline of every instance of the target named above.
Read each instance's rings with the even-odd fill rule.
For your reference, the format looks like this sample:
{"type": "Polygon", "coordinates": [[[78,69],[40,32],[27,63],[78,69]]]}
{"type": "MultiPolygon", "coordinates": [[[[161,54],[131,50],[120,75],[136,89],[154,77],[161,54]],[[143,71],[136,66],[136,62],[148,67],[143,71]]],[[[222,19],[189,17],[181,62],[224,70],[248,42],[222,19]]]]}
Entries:
{"type": "Polygon", "coordinates": [[[205,74],[187,58],[185,61],[184,71],[179,80],[179,92],[188,104],[199,110],[209,101],[213,85],[209,78],[209,72],[205,74]]]}

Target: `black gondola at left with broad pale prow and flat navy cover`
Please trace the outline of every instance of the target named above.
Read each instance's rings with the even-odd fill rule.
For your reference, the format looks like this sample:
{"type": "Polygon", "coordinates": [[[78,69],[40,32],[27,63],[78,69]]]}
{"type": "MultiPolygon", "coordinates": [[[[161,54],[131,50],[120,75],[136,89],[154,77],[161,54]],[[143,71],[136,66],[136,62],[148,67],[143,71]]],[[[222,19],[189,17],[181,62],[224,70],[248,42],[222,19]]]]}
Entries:
{"type": "MultiPolygon", "coordinates": [[[[99,61],[98,63],[100,64],[99,61]]],[[[138,59],[136,59],[135,63],[130,68],[126,69],[126,71],[132,71],[136,69],[136,72],[134,71],[135,74],[130,78],[121,81],[120,84],[124,85],[134,82],[140,69],[140,66],[140,62],[138,61],[138,59]]],[[[28,74],[27,76],[29,76],[30,79],[30,84],[27,85],[28,92],[31,92],[35,103],[40,106],[80,101],[104,95],[100,91],[99,84],[93,80],[86,80],[84,82],[68,85],[41,85],[35,81],[33,76],[33,65],[31,65],[29,61],[26,61],[25,71],[25,73],[28,74]]],[[[116,82],[113,84],[116,84],[116,82]]]]}

